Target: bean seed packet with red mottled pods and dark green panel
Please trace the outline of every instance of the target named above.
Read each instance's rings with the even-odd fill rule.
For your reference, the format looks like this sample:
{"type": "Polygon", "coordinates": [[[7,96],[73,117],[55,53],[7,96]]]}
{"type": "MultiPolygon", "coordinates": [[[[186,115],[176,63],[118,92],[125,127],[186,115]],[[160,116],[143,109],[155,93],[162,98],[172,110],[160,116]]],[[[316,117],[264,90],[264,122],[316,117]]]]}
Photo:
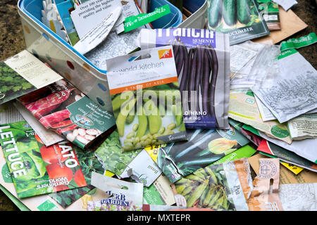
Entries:
{"type": "Polygon", "coordinates": [[[80,148],[89,148],[115,127],[113,114],[62,79],[18,98],[46,129],[80,148]]]}

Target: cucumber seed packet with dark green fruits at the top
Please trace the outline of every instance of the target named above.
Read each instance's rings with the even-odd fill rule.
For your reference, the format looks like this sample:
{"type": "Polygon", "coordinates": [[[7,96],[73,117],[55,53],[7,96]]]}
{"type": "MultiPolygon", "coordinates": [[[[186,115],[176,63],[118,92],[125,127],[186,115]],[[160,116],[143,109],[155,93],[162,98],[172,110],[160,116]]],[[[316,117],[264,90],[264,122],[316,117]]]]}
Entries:
{"type": "Polygon", "coordinates": [[[208,0],[208,28],[229,35],[230,45],[270,34],[256,0],[208,0]]]}

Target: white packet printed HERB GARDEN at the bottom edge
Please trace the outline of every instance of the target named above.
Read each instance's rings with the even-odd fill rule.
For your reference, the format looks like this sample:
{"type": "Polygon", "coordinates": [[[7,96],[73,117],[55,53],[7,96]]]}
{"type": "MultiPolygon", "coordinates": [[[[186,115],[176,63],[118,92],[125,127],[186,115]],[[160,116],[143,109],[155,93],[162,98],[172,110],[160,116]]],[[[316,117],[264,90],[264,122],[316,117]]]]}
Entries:
{"type": "Polygon", "coordinates": [[[120,181],[92,172],[92,185],[106,192],[109,198],[88,201],[87,211],[142,211],[143,184],[120,181]]]}

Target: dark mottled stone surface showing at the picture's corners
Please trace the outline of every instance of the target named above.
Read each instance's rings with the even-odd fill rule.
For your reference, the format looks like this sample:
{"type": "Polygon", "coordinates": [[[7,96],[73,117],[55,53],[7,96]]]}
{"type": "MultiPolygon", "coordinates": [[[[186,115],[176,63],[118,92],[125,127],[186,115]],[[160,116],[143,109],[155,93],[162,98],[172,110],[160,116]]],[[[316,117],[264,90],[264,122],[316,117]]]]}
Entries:
{"type": "MultiPolygon", "coordinates": [[[[317,32],[316,0],[297,0],[292,8],[299,18],[309,25],[305,30],[292,37],[302,37],[311,32],[317,32]]],[[[4,60],[25,49],[23,30],[17,11],[17,0],[0,1],[0,60],[4,60]]],[[[299,49],[299,52],[314,68],[317,68],[317,44],[299,49]]],[[[6,195],[0,191],[0,211],[19,210],[6,195]]]]}

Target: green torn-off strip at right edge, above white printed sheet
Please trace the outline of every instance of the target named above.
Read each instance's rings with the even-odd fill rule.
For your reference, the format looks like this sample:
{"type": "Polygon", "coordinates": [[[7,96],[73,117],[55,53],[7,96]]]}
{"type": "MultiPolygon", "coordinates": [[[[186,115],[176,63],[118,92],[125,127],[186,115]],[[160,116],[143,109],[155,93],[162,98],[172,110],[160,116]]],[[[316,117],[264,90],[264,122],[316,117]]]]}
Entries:
{"type": "Polygon", "coordinates": [[[287,49],[299,49],[317,42],[316,33],[312,32],[304,37],[292,38],[288,41],[282,41],[280,44],[280,50],[284,51],[287,49]]]}

